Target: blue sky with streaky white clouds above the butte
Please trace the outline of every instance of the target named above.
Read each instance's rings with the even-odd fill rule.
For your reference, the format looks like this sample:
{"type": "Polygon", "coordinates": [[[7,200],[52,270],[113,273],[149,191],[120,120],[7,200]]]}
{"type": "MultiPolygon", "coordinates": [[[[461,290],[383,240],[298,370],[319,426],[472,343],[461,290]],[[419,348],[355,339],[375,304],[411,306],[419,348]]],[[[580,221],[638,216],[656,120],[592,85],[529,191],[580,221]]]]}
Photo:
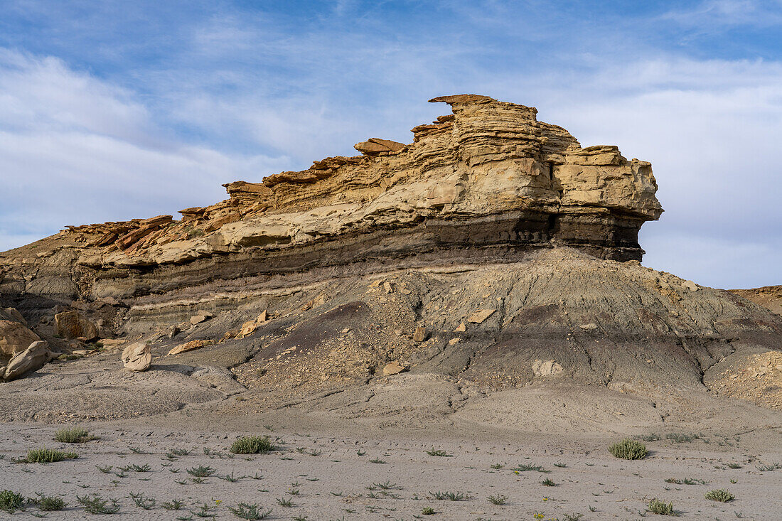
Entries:
{"type": "Polygon", "coordinates": [[[782,284],[782,1],[0,0],[0,250],[353,155],[474,92],[651,161],[644,264],[782,284]]]}

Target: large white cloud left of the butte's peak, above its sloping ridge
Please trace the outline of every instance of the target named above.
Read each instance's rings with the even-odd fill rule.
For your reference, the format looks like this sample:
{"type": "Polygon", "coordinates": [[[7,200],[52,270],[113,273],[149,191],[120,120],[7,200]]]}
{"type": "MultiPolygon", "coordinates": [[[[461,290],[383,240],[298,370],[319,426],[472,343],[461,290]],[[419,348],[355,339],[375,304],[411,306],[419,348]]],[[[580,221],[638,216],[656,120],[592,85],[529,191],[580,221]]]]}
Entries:
{"type": "Polygon", "coordinates": [[[130,92],[58,59],[0,52],[0,250],[64,225],[215,203],[222,183],[289,163],[165,135],[130,92]]]}

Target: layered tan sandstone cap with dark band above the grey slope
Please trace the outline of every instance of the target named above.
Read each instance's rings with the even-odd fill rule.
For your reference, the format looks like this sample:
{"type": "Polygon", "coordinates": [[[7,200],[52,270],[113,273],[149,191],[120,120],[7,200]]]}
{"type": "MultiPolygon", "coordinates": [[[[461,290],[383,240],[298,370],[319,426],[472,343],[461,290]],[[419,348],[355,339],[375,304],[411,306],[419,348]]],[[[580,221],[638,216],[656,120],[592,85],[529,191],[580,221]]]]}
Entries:
{"type": "Polygon", "coordinates": [[[638,230],[662,213],[650,163],[615,146],[582,148],[532,107],[481,95],[430,101],[453,114],[413,128],[411,144],[370,138],[356,145],[361,156],[224,185],[228,199],[181,210],[180,221],[70,226],[34,256],[5,253],[0,291],[129,298],[357,263],[348,269],[512,262],[554,246],[640,260],[638,230]]]}

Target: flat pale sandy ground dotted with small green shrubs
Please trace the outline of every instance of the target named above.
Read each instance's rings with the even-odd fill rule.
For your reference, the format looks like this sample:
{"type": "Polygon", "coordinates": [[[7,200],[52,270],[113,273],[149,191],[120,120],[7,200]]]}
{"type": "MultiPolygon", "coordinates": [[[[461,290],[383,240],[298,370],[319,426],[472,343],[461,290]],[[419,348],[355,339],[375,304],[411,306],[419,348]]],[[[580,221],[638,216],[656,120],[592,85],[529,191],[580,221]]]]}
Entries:
{"type": "MultiPolygon", "coordinates": [[[[282,413],[246,417],[239,432],[219,429],[220,422],[207,413],[197,416],[182,412],[165,419],[83,423],[99,437],[84,444],[53,441],[59,426],[3,424],[0,476],[5,488],[25,495],[43,492],[64,498],[66,510],[47,512],[48,519],[93,519],[77,501],[86,494],[118,500],[117,515],[99,519],[202,519],[199,514],[239,519],[229,507],[241,502],[271,509],[267,519],[308,521],[656,518],[644,512],[651,498],[673,501],[680,519],[782,519],[782,469],[758,469],[782,462],[778,428],[708,432],[680,442],[662,435],[662,440],[647,442],[646,459],[625,461],[608,454],[616,436],[506,430],[473,437],[468,429],[402,433],[363,426],[323,433],[310,429],[304,417],[282,413]],[[199,430],[199,423],[211,428],[199,430]],[[231,442],[247,433],[279,437],[280,449],[267,455],[231,455],[231,442]],[[43,446],[74,450],[79,457],[46,465],[15,462],[28,449],[43,446]],[[189,452],[170,455],[173,449],[189,452]],[[427,454],[432,449],[448,456],[427,454]],[[128,465],[149,465],[149,470],[121,470],[128,465]],[[188,469],[199,465],[209,466],[214,474],[194,483],[188,469]],[[541,465],[547,472],[518,472],[518,465],[541,465]],[[546,478],[555,486],[543,486],[546,478]],[[708,484],[665,482],[686,478],[708,484]],[[730,490],[736,499],[719,503],[704,498],[706,491],[719,488],[730,490]],[[436,492],[465,498],[438,500],[436,492]],[[138,498],[149,509],[137,505],[131,494],[144,494],[138,498]],[[507,500],[493,505],[489,496],[507,500]],[[180,510],[163,507],[174,499],[181,499],[180,510]],[[292,506],[280,505],[285,501],[292,506]],[[436,513],[424,515],[425,508],[436,513]]],[[[30,507],[9,517],[31,515],[40,512],[30,507]]]]}

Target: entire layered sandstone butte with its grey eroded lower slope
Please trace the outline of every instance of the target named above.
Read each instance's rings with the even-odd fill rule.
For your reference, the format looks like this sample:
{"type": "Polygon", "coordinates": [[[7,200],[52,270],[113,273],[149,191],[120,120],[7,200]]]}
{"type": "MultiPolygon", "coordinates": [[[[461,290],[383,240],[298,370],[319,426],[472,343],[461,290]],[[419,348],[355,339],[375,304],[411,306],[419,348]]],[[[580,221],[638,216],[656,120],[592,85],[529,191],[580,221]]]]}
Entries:
{"type": "Polygon", "coordinates": [[[779,315],[640,265],[638,231],[662,214],[650,163],[583,148],[532,107],[430,101],[453,113],[410,144],[371,138],[224,185],[180,220],[69,226],[0,253],[0,304],[18,310],[0,318],[21,313],[34,333],[9,330],[60,353],[92,340],[84,319],[112,345],[149,342],[152,367],[216,367],[267,405],[383,378],[730,394],[726,372],[782,343],[779,315]],[[89,334],[60,339],[71,311],[89,334]]]}

